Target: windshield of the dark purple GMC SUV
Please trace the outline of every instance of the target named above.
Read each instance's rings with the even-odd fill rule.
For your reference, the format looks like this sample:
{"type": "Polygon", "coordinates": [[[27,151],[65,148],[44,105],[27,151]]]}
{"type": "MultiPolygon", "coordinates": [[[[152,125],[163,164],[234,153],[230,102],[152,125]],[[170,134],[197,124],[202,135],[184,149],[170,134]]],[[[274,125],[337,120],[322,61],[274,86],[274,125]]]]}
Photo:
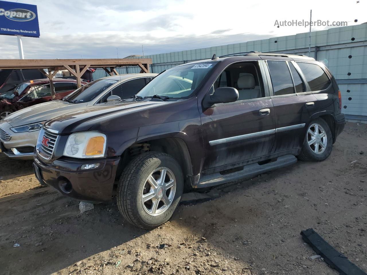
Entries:
{"type": "Polygon", "coordinates": [[[189,98],[216,62],[173,67],[150,81],[137,96],[168,96],[170,99],[189,98]]]}

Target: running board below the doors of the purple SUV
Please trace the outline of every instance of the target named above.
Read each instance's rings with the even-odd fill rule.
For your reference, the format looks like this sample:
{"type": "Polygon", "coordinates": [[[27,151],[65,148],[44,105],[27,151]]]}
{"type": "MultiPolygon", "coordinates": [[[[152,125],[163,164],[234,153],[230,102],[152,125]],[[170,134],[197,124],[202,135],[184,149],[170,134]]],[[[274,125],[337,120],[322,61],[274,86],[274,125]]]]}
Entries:
{"type": "Polygon", "coordinates": [[[252,163],[243,166],[243,169],[237,172],[229,173],[227,175],[221,175],[221,173],[213,173],[200,178],[199,183],[194,188],[204,188],[215,186],[218,184],[240,180],[244,178],[252,178],[271,170],[279,169],[297,162],[297,158],[294,155],[283,155],[278,157],[276,161],[269,162],[263,165],[258,163],[252,163]]]}

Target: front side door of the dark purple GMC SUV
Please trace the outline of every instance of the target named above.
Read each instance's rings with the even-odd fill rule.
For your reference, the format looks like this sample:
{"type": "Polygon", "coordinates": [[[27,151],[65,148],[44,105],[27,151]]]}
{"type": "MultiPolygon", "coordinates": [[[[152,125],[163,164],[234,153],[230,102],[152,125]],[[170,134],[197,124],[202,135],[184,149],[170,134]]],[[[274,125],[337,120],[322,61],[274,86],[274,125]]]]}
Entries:
{"type": "Polygon", "coordinates": [[[217,172],[268,155],[274,143],[274,108],[258,61],[229,65],[213,84],[233,87],[239,99],[201,113],[205,160],[203,171],[217,172]]]}

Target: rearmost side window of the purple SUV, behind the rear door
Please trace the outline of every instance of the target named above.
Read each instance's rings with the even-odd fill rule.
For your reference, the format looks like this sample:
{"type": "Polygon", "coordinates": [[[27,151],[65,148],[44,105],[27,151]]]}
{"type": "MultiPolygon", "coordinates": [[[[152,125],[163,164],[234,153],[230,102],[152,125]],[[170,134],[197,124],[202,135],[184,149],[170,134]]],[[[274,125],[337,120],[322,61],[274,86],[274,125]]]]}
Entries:
{"type": "Polygon", "coordinates": [[[317,64],[297,62],[306,77],[312,92],[322,91],[329,87],[330,79],[323,69],[317,64]]]}

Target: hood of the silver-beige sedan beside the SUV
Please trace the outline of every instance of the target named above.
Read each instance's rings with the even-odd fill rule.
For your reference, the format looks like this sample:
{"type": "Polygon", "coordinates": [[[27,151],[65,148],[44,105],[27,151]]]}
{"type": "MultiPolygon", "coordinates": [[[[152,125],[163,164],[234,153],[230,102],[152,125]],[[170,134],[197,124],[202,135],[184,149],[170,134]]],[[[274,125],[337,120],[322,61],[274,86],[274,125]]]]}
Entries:
{"type": "Polygon", "coordinates": [[[11,126],[17,127],[21,125],[36,123],[49,120],[57,115],[68,113],[76,109],[86,106],[86,103],[70,103],[62,100],[54,100],[41,104],[36,104],[8,115],[3,120],[11,126]]]}

